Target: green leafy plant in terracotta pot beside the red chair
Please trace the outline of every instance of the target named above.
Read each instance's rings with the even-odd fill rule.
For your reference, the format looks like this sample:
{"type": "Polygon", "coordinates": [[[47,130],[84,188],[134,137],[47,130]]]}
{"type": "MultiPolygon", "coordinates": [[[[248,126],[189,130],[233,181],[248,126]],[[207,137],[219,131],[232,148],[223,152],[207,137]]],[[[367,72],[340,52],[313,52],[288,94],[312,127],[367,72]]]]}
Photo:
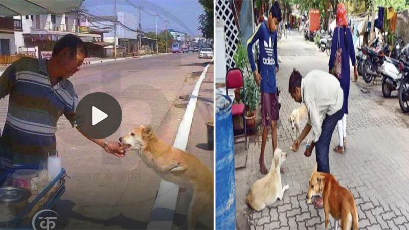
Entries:
{"type": "Polygon", "coordinates": [[[260,101],[260,88],[256,85],[253,73],[249,72],[247,66],[247,52],[241,44],[238,45],[233,56],[236,67],[243,72],[243,88],[240,90],[240,98],[246,106],[246,125],[253,128],[256,124],[256,108],[260,101]]]}

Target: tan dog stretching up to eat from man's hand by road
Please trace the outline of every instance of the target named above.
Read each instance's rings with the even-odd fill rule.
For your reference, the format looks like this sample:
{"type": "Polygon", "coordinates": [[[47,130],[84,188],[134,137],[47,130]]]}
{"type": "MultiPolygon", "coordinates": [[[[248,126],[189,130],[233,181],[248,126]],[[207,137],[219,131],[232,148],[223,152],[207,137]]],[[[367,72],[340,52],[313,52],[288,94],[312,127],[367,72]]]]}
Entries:
{"type": "Polygon", "coordinates": [[[145,164],[162,179],[193,189],[187,224],[194,229],[200,214],[213,205],[213,173],[209,168],[194,155],[159,140],[150,126],[141,125],[119,141],[125,151],[139,150],[145,164]]]}

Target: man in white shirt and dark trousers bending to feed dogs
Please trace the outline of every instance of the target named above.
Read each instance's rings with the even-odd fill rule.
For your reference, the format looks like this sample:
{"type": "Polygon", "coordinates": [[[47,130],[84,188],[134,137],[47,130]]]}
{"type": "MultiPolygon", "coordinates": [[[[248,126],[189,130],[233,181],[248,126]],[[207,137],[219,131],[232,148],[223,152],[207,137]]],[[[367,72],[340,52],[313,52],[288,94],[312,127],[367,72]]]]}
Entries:
{"type": "Polygon", "coordinates": [[[332,133],[343,116],[342,105],[344,93],[338,79],[321,70],[312,70],[305,77],[294,69],[291,73],[288,91],[291,97],[299,103],[304,103],[308,111],[308,122],[300,136],[292,145],[293,151],[298,151],[300,143],[313,131],[312,143],[305,150],[305,156],[311,156],[316,146],[316,161],[318,171],[329,173],[329,146],[332,133]]]}

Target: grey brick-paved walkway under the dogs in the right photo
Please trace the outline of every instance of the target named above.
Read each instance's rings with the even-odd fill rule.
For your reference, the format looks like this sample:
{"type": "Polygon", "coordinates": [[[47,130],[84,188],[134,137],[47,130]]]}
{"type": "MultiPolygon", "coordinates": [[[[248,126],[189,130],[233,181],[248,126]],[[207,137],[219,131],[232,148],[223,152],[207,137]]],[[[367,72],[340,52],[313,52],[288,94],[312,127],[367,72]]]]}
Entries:
{"type": "MultiPolygon", "coordinates": [[[[278,54],[282,60],[277,77],[282,89],[278,147],[288,153],[283,164],[285,173],[281,178],[283,185],[288,183],[289,190],[283,200],[261,212],[255,212],[245,204],[250,187],[263,177],[259,170],[259,131],[250,139],[246,168],[236,170],[236,226],[237,229],[324,229],[323,209],[315,209],[306,202],[315,151],[309,158],[303,155],[308,137],[297,153],[289,148],[296,134],[287,118],[299,104],[288,93],[288,80],[294,67],[303,76],[313,68],[328,71],[329,57],[319,52],[313,43],[304,41],[302,35],[294,30],[288,39],[279,42],[278,54]]],[[[359,85],[365,84],[362,82],[360,77],[359,85]]],[[[331,173],[354,194],[359,228],[409,229],[409,119],[407,114],[402,116],[395,109],[377,103],[379,97],[379,94],[362,93],[358,84],[351,82],[347,147],[343,155],[332,151],[338,144],[335,129],[329,153],[331,173]]],[[[266,144],[265,160],[269,169],[272,161],[271,135],[266,144]]],[[[332,217],[330,222],[332,228],[332,217]]]]}

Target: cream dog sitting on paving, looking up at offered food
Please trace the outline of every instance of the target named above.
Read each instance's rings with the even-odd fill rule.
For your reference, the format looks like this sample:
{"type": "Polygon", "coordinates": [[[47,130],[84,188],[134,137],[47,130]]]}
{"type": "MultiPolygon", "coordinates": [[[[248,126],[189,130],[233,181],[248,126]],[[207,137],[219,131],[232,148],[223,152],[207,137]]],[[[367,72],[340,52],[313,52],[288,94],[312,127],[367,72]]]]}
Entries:
{"type": "Polygon", "coordinates": [[[246,203],[252,209],[260,211],[274,203],[277,198],[283,199],[284,192],[289,186],[282,187],[281,185],[280,167],[286,158],[287,153],[281,151],[281,149],[277,148],[274,151],[270,171],[266,176],[254,182],[246,198],[246,203]]]}

